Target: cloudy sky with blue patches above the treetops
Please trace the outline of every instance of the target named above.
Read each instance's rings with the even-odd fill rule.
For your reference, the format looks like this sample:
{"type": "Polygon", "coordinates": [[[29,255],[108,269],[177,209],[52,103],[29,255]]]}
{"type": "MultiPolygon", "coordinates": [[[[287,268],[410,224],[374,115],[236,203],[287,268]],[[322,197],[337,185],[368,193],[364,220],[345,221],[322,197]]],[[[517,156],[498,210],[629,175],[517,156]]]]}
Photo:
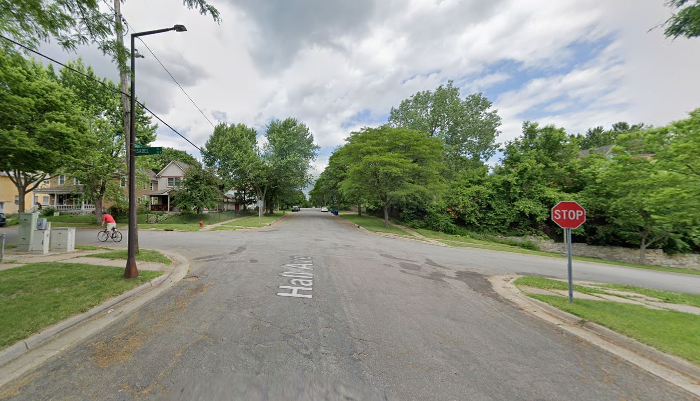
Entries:
{"type": "MultiPolygon", "coordinates": [[[[493,101],[501,142],[523,120],[575,133],[620,120],[662,125],[700,107],[700,39],[650,31],[668,18],[664,0],[210,2],[221,24],[179,0],[128,0],[123,13],[136,31],[186,25],[145,41],[209,120],[262,134],[273,118],[298,118],[322,146],[318,171],[353,129],[386,122],[391,106],[450,79],[463,96],[484,92],[493,101]]],[[[204,144],[209,122],[137,48],[146,55],[137,62],[139,98],[204,144]]],[[[117,79],[97,50],[78,55],[117,79]]],[[[156,143],[199,156],[167,127],[156,143]]]]}

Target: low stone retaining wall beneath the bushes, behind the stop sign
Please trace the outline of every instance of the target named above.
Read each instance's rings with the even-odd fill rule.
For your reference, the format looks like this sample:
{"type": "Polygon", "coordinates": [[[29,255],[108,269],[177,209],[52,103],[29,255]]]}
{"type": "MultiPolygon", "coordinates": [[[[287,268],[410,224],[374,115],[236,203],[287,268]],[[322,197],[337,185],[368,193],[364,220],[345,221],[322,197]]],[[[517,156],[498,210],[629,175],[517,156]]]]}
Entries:
{"type": "MultiPolygon", "coordinates": [[[[538,237],[503,237],[513,241],[533,241],[540,246],[540,250],[555,253],[566,253],[563,242],[554,242],[550,239],[538,237]]],[[[574,242],[572,252],[577,256],[588,258],[600,258],[617,260],[618,262],[639,263],[639,249],[622,248],[622,246],[594,246],[574,242]]],[[[700,255],[691,253],[685,255],[667,255],[661,249],[647,249],[644,253],[644,264],[664,267],[682,267],[685,269],[700,270],[700,255]]]]}

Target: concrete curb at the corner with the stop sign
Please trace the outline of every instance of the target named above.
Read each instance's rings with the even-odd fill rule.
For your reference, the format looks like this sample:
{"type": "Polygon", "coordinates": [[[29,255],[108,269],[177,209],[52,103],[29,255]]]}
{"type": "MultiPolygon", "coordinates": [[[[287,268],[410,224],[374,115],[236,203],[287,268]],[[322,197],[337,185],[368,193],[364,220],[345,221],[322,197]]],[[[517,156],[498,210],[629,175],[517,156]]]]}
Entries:
{"type": "Polygon", "coordinates": [[[597,323],[561,311],[522,293],[513,283],[519,276],[489,277],[493,290],[524,311],[580,337],[661,379],[700,397],[700,367],[642,344],[597,323]]]}

